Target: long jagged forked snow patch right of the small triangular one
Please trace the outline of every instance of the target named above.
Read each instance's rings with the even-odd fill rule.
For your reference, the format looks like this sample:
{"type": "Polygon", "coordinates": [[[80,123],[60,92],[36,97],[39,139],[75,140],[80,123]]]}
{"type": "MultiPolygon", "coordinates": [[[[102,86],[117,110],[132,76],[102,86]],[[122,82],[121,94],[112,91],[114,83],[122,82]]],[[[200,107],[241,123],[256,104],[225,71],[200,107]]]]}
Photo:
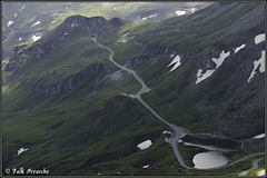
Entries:
{"type": "Polygon", "coordinates": [[[208,77],[210,77],[216,69],[218,69],[222,62],[225,61],[225,59],[227,57],[229,57],[230,55],[230,51],[228,52],[225,52],[225,50],[221,51],[219,58],[212,58],[212,61],[215,62],[215,66],[216,68],[215,69],[211,69],[211,70],[207,70],[205,73],[202,73],[202,69],[199,69],[198,72],[197,72],[197,81],[196,81],[196,85],[204,81],[205,79],[207,79],[208,77]]]}

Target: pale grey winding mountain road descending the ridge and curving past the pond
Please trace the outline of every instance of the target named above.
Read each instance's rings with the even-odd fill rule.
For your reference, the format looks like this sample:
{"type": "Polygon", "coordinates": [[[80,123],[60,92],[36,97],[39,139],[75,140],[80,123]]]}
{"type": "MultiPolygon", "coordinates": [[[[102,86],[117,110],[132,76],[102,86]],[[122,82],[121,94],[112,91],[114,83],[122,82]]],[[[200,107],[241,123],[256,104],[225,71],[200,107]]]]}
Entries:
{"type": "MultiPolygon", "coordinates": [[[[125,70],[125,71],[131,73],[131,75],[141,83],[142,88],[141,88],[141,90],[140,90],[138,93],[136,93],[136,95],[126,95],[126,93],[123,93],[123,96],[130,97],[130,98],[132,98],[132,99],[134,99],[134,98],[138,99],[139,102],[140,102],[144,107],[146,107],[156,118],[158,118],[158,119],[159,119],[160,121],[162,121],[165,125],[169,126],[171,129],[175,130],[175,136],[171,137],[171,138],[169,138],[169,139],[168,139],[168,142],[169,142],[170,146],[172,147],[174,152],[175,152],[175,155],[176,155],[176,158],[177,158],[178,162],[179,162],[184,168],[186,168],[186,169],[196,169],[196,168],[191,168],[191,167],[189,167],[189,166],[187,166],[187,165],[185,164],[185,161],[184,161],[184,159],[182,159],[182,157],[181,157],[181,155],[180,155],[180,152],[179,152],[179,150],[178,150],[178,147],[177,147],[178,140],[181,139],[182,137],[185,137],[186,135],[190,134],[190,132],[189,132],[187,129],[182,128],[182,127],[177,127],[177,126],[175,126],[175,125],[172,125],[172,123],[169,123],[169,122],[166,121],[162,117],[160,117],[147,102],[145,102],[145,101],[141,99],[141,93],[148,92],[150,89],[147,87],[147,85],[145,83],[145,81],[142,80],[142,78],[141,78],[135,70],[129,69],[129,68],[127,68],[127,67],[123,67],[123,66],[117,63],[117,62],[113,60],[113,51],[112,51],[111,49],[109,49],[108,47],[105,47],[105,46],[100,44],[95,37],[91,37],[91,40],[92,40],[95,43],[97,43],[100,48],[103,48],[103,49],[106,49],[106,50],[108,50],[108,51],[110,52],[109,60],[110,60],[113,65],[116,65],[116,66],[117,66],[118,68],[120,68],[121,70],[125,70]]],[[[243,161],[243,160],[245,160],[245,159],[248,159],[248,158],[254,157],[254,156],[257,156],[257,155],[265,155],[265,152],[251,154],[251,155],[248,155],[248,156],[246,156],[246,157],[244,157],[244,158],[241,158],[241,159],[238,159],[238,160],[236,160],[236,161],[234,161],[234,162],[230,162],[230,164],[228,164],[228,165],[224,165],[224,166],[216,167],[216,168],[209,168],[209,169],[205,169],[205,170],[221,169],[221,168],[225,168],[225,167],[228,167],[228,166],[233,166],[233,165],[235,165],[235,164],[238,164],[238,162],[240,162],[240,161],[243,161]]],[[[263,159],[264,159],[264,158],[263,158],[263,159]]],[[[258,160],[258,159],[257,159],[257,160],[258,160]]],[[[260,159],[260,160],[261,160],[261,159],[260,159]]],[[[198,170],[198,169],[196,169],[196,170],[198,170]]],[[[201,169],[201,170],[204,170],[204,169],[201,169]]]]}

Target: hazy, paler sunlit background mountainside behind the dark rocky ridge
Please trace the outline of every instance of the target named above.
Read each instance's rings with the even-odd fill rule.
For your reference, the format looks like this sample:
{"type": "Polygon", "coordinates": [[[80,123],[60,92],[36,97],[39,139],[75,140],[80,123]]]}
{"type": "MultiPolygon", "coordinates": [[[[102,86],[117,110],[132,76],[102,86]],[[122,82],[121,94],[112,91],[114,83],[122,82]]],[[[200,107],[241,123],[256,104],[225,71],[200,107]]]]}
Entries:
{"type": "Polygon", "coordinates": [[[208,2],[3,2],[2,3],[2,58],[7,58],[13,46],[32,42],[59,26],[70,16],[119,17],[125,20],[159,20],[175,17],[176,11],[195,12],[208,2]],[[194,11],[190,9],[194,8],[194,11]]]}

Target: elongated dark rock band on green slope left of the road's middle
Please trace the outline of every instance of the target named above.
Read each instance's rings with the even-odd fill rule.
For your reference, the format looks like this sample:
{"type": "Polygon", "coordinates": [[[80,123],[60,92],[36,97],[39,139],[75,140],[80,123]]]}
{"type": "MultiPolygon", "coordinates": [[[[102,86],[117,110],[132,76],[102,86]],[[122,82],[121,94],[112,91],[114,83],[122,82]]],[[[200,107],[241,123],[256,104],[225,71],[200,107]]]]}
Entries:
{"type": "Polygon", "coordinates": [[[70,91],[77,86],[97,83],[107,75],[106,71],[103,63],[93,63],[75,75],[68,76],[57,83],[48,86],[42,85],[42,80],[46,78],[46,76],[43,76],[39,79],[27,81],[26,87],[43,97],[51,97],[61,91],[70,91]]]}

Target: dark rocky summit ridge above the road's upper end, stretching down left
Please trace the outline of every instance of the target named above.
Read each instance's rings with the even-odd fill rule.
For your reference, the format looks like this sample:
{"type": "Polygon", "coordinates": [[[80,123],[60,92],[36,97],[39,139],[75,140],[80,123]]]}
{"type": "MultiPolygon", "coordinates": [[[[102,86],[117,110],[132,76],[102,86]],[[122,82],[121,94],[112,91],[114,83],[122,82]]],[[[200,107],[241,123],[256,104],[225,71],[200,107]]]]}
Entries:
{"type": "Polygon", "coordinates": [[[66,33],[72,33],[73,37],[83,39],[89,38],[91,34],[105,38],[115,33],[123,23],[125,21],[119,18],[107,20],[102,17],[69,17],[63,23],[46,34],[44,39],[41,39],[41,42],[34,43],[29,48],[26,48],[26,44],[14,47],[9,62],[4,66],[3,70],[13,71],[23,61],[23,55],[28,55],[30,60],[42,60],[46,56],[55,52],[57,46],[65,39],[66,33]]]}

